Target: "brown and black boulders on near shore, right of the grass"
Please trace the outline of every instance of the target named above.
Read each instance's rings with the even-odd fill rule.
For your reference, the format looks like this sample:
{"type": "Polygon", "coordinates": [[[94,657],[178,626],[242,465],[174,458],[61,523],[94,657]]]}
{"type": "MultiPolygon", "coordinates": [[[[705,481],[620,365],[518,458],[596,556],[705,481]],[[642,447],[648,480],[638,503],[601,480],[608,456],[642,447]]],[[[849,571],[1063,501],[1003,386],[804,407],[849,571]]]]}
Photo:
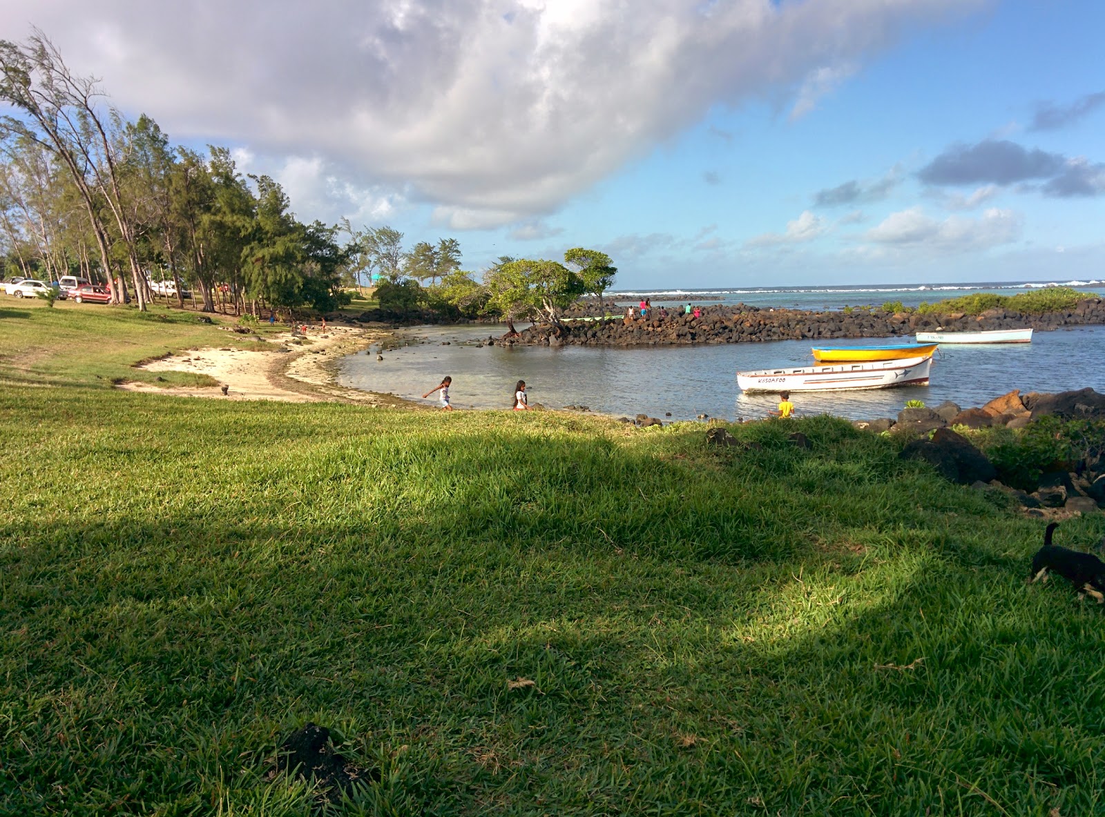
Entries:
{"type": "MultiPolygon", "coordinates": [[[[1042,394],[1019,390],[994,397],[983,406],[960,408],[945,402],[936,408],[903,408],[896,420],[882,417],[856,421],[860,428],[917,436],[899,455],[924,459],[945,478],[987,492],[1004,495],[1036,516],[1092,512],[1105,508],[1105,394],[1093,389],[1042,394]],[[965,435],[992,427],[1031,431],[1033,423],[1052,418],[1061,423],[1088,421],[1072,435],[1072,445],[1061,456],[1033,463],[1023,455],[1012,456],[1007,439],[1004,457],[1000,447],[987,457],[965,435]],[[962,434],[953,429],[958,427],[962,434]],[[933,432],[932,437],[928,432],[933,432]],[[1076,441],[1076,442],[1074,442],[1076,441]]],[[[1046,426],[1050,438],[1066,436],[1063,427],[1046,426]]],[[[989,450],[989,449],[988,449],[989,450]]]]}

